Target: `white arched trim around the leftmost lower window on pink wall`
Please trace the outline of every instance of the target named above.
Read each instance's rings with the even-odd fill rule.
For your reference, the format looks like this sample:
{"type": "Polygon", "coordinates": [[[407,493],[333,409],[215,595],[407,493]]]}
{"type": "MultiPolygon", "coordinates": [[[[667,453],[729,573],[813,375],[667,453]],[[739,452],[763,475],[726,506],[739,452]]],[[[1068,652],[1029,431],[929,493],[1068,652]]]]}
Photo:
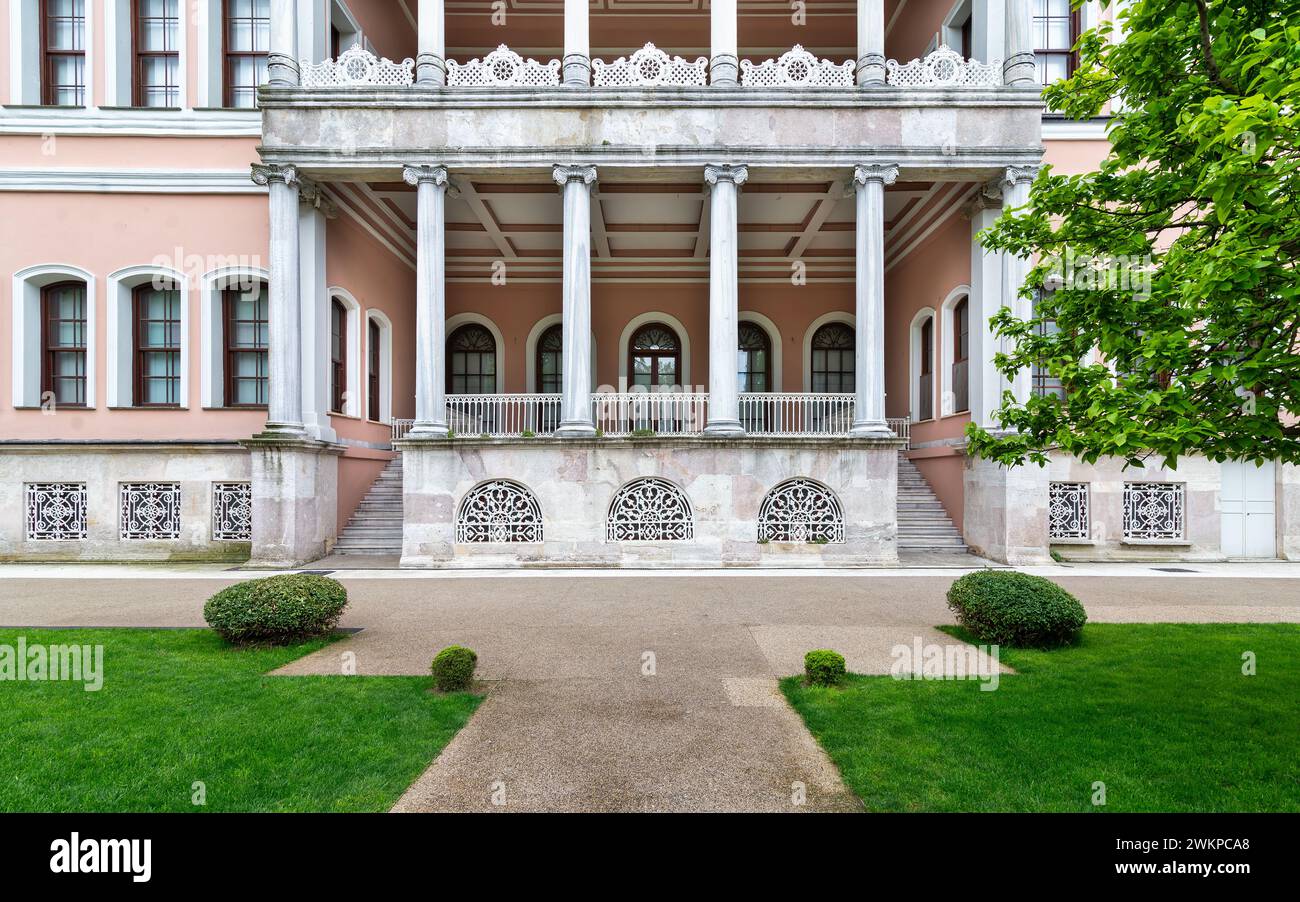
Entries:
{"type": "Polygon", "coordinates": [[[62,263],[36,264],[13,274],[14,407],[40,407],[40,289],[64,279],[86,283],[86,407],[95,409],[95,276],[81,266],[62,263]],[[36,355],[36,359],[32,360],[31,355],[36,355]]]}

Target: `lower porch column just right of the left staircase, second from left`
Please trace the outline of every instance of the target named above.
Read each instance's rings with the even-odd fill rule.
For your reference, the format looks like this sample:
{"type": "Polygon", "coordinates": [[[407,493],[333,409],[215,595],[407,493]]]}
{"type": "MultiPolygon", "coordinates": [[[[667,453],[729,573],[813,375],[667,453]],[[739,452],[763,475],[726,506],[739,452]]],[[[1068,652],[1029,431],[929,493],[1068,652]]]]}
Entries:
{"type": "Polygon", "coordinates": [[[447,435],[447,391],[443,355],[447,344],[445,166],[406,166],[402,177],[415,185],[415,424],[412,437],[447,435]]]}

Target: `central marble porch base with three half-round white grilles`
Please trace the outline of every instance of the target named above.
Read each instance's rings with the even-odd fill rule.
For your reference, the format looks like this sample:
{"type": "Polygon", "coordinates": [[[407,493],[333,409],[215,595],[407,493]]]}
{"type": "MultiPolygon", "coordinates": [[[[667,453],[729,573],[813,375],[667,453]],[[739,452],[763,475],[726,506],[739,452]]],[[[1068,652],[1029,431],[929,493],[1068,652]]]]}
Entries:
{"type": "MultiPolygon", "coordinates": [[[[408,439],[399,443],[404,481],[402,565],[896,564],[900,445],[896,439],[698,437],[408,439]],[[637,482],[646,478],[659,481],[658,487],[637,482]],[[760,542],[764,499],[793,478],[805,480],[805,491],[784,494],[793,508],[777,506],[764,522],[785,522],[783,517],[790,509],[815,508],[810,534],[818,538],[760,542]],[[494,483],[495,494],[490,491],[494,483]],[[666,500],[675,493],[685,499],[676,513],[666,500]],[[801,507],[810,495],[818,503],[801,507]],[[615,504],[616,496],[627,503],[615,504]],[[822,506],[827,498],[832,499],[832,509],[838,504],[838,515],[827,513],[822,506]],[[664,534],[676,538],[660,534],[624,541],[611,535],[611,504],[619,512],[615,533],[637,533],[638,517],[646,521],[646,532],[654,533],[659,526],[651,521],[676,516],[664,526],[664,534]]],[[[794,520],[801,522],[802,516],[796,513],[794,520]]],[[[777,525],[775,534],[781,535],[783,529],[777,525]]],[[[800,529],[796,525],[796,532],[800,529]]]]}

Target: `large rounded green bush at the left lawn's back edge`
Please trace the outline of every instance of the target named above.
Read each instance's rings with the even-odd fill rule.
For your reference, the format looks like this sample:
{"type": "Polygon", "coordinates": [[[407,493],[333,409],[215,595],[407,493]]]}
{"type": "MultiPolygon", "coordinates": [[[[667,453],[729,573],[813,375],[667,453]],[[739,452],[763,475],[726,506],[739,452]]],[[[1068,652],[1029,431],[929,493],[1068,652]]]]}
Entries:
{"type": "Polygon", "coordinates": [[[203,606],[203,619],[234,645],[287,645],[328,636],[347,607],[337,580],[313,573],[237,582],[203,606]]]}

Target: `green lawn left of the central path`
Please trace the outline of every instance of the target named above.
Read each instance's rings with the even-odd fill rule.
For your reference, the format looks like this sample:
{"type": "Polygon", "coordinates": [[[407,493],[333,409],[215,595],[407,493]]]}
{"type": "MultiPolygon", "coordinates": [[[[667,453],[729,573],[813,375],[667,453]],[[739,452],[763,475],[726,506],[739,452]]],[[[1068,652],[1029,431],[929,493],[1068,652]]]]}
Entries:
{"type": "Polygon", "coordinates": [[[325,641],[0,629],[0,643],[20,636],[103,645],[104,685],[0,682],[0,811],[384,811],[480,702],[429,693],[432,677],[265,676],[325,641]]]}

